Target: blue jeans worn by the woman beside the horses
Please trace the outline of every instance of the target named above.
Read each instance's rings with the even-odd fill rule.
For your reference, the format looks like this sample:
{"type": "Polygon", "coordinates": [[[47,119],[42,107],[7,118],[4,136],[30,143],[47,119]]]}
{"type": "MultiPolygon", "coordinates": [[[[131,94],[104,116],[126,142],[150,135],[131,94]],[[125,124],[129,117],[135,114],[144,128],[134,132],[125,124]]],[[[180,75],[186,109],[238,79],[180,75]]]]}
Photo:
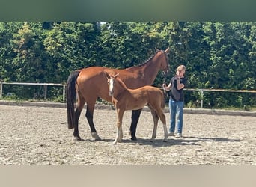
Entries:
{"type": "Polygon", "coordinates": [[[176,116],[177,116],[177,132],[182,133],[183,127],[183,105],[184,102],[169,100],[169,109],[170,109],[170,132],[175,131],[176,125],[176,116]]]}

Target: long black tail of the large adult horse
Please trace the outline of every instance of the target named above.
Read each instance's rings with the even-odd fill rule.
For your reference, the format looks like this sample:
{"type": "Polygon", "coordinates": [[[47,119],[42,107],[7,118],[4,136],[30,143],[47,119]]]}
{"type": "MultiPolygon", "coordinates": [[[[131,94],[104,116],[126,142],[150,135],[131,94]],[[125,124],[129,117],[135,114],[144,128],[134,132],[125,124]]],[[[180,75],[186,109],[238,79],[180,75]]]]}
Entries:
{"type": "Polygon", "coordinates": [[[74,128],[75,123],[75,100],[76,100],[76,79],[79,76],[79,71],[70,73],[67,79],[67,127],[74,128]]]}

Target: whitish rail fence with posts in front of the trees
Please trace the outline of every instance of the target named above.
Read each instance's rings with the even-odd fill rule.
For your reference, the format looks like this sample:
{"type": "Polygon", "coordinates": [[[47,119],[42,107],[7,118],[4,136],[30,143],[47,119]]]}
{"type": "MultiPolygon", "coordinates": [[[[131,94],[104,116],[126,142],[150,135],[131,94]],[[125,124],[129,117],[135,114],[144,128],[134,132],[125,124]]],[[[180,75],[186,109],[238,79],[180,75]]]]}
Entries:
{"type": "MultiPolygon", "coordinates": [[[[3,93],[3,85],[43,85],[43,96],[44,99],[47,97],[47,86],[61,86],[63,87],[62,98],[65,99],[65,88],[67,85],[64,84],[55,84],[55,83],[31,83],[31,82],[1,82],[0,80],[0,98],[3,93]]],[[[204,88],[185,88],[185,91],[200,91],[201,92],[201,108],[204,106],[204,91],[219,91],[219,92],[237,92],[237,93],[256,93],[256,91],[247,91],[247,90],[225,90],[225,89],[204,89],[204,88]]]]}

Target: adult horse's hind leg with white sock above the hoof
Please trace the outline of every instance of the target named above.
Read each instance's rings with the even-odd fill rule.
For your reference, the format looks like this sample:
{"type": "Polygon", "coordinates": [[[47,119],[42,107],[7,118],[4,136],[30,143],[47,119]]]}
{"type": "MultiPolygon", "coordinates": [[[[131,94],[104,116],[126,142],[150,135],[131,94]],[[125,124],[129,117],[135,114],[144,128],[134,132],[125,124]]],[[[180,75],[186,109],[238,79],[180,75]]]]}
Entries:
{"type": "Polygon", "coordinates": [[[94,126],[94,107],[95,107],[95,102],[96,99],[90,98],[91,101],[87,102],[87,109],[86,109],[86,113],[85,113],[85,117],[88,120],[90,129],[91,129],[91,136],[92,138],[94,138],[96,141],[100,140],[100,136],[97,135],[95,126],[94,126]]]}

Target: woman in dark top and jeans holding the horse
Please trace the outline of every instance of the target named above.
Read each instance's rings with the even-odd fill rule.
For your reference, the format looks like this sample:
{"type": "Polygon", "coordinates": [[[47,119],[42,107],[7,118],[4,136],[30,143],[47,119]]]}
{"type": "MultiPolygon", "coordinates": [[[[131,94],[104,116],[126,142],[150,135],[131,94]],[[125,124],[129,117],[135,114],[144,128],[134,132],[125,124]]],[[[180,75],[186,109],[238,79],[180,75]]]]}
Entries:
{"type": "Polygon", "coordinates": [[[183,130],[183,106],[184,106],[184,93],[183,89],[186,86],[186,79],[184,74],[186,67],[180,65],[177,67],[175,76],[171,78],[171,82],[168,86],[162,84],[165,91],[170,91],[169,108],[170,108],[170,133],[169,136],[174,136],[176,116],[177,116],[177,138],[182,137],[183,130]]]}

